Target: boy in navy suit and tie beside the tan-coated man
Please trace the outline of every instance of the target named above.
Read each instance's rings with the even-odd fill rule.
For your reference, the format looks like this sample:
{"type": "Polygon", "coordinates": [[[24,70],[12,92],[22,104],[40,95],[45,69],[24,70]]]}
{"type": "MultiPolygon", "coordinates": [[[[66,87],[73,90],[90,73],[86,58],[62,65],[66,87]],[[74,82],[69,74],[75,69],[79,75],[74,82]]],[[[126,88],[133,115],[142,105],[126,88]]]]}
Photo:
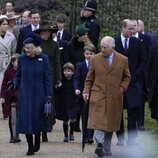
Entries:
{"type": "MultiPolygon", "coordinates": [[[[88,44],[84,47],[84,57],[85,60],[83,62],[80,62],[75,70],[74,74],[74,88],[75,88],[75,94],[77,96],[77,105],[78,110],[80,111],[81,115],[83,114],[83,106],[84,106],[84,100],[82,98],[82,92],[84,88],[84,82],[90,67],[90,60],[95,55],[96,49],[93,44],[88,44]]],[[[85,112],[85,111],[84,111],[85,112]]],[[[85,121],[87,124],[88,120],[88,109],[86,110],[86,117],[85,121]]],[[[85,122],[84,122],[85,123],[85,122]]],[[[86,143],[93,143],[93,130],[91,129],[84,129],[84,135],[85,135],[85,142],[86,143]]]]}

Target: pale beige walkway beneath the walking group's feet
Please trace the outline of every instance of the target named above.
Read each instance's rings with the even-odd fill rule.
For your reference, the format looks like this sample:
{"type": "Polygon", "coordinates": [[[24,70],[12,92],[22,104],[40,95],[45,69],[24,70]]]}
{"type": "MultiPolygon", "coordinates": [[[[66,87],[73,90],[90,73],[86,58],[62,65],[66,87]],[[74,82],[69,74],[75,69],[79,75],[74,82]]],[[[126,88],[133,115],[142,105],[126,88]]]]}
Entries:
{"type": "MultiPolygon", "coordinates": [[[[27,143],[24,135],[20,135],[21,143],[9,143],[8,120],[2,119],[0,111],[0,157],[25,158],[27,143]]],[[[97,158],[94,154],[95,144],[86,145],[85,152],[81,151],[81,133],[75,133],[75,141],[64,143],[62,123],[57,121],[54,129],[48,134],[49,142],[41,143],[41,149],[32,157],[34,158],[97,158]]],[[[139,145],[129,147],[116,146],[116,136],[112,140],[112,156],[110,158],[158,158],[158,142],[155,137],[147,132],[139,133],[139,145]],[[157,156],[156,156],[157,153],[157,156]]]]}

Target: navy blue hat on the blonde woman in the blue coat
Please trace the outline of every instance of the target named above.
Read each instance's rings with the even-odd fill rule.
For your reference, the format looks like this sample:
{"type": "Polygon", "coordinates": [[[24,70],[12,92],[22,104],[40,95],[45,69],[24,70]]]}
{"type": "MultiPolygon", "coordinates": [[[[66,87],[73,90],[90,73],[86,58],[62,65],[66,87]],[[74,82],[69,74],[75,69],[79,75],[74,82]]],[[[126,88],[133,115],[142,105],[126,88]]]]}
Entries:
{"type": "Polygon", "coordinates": [[[24,37],[23,45],[30,43],[34,44],[35,46],[40,46],[42,44],[42,39],[38,34],[31,32],[24,37]]]}

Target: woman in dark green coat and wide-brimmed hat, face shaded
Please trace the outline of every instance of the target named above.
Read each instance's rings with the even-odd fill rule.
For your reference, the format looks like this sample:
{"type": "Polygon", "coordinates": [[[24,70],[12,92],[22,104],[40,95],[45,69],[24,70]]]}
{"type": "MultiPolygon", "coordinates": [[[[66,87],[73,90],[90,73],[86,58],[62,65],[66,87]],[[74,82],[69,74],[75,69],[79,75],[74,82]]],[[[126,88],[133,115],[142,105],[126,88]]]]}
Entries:
{"type": "MultiPolygon", "coordinates": [[[[38,33],[42,38],[41,48],[45,54],[48,55],[48,59],[50,62],[51,68],[51,75],[52,75],[52,83],[53,85],[60,85],[61,84],[61,63],[60,63],[60,53],[58,43],[52,40],[52,33],[57,32],[58,27],[54,25],[51,27],[49,22],[43,22],[40,25],[38,30],[35,30],[35,33],[38,33]]],[[[54,87],[53,87],[54,90],[54,87]]],[[[55,104],[55,96],[52,96],[53,105],[55,104]]],[[[51,114],[51,123],[52,125],[55,123],[54,120],[54,113],[51,114]]],[[[42,132],[42,141],[47,142],[47,132],[42,132]]]]}

